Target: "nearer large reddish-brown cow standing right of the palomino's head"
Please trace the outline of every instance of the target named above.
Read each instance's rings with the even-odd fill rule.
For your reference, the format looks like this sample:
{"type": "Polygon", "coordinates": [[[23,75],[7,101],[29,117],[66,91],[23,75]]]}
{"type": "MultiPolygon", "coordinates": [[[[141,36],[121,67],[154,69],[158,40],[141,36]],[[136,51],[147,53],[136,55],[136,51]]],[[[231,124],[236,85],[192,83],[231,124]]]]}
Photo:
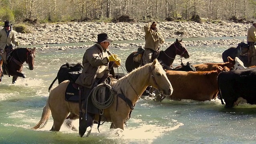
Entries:
{"type": "Polygon", "coordinates": [[[198,101],[216,99],[218,92],[217,76],[223,71],[229,71],[229,68],[218,66],[216,70],[206,72],[166,70],[166,75],[174,89],[169,98],[198,101]]]}

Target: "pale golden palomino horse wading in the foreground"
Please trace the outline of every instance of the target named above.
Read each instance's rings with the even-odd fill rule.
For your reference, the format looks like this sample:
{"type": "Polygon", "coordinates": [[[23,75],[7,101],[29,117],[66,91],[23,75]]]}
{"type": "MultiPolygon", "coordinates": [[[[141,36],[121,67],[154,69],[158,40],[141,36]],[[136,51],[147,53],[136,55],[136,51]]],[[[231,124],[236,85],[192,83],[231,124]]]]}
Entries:
{"type": "MultiPolygon", "coordinates": [[[[67,102],[65,100],[65,90],[69,83],[70,81],[66,80],[50,92],[42,112],[41,120],[33,128],[43,128],[50,117],[50,113],[52,113],[54,122],[51,130],[59,131],[70,112],[79,115],[78,103],[67,102]]],[[[124,94],[126,102],[119,95],[118,97],[114,96],[114,103],[104,109],[102,122],[112,122],[115,128],[124,130],[124,122],[128,120],[133,106],[149,85],[162,90],[167,95],[171,95],[173,92],[166,72],[157,59],[150,64],[135,69],[127,76],[120,78],[116,83],[112,83],[114,92],[116,94],[124,94]],[[132,106],[128,106],[127,101],[130,101],[132,106]]],[[[94,120],[99,120],[98,114],[95,115],[94,120]]]]}

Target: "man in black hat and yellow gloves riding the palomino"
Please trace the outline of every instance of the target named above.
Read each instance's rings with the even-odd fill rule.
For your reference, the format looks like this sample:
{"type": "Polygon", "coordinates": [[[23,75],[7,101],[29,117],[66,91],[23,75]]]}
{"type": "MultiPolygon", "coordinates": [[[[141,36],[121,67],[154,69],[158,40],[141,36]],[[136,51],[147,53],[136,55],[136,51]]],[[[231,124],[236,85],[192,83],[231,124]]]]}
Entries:
{"type": "Polygon", "coordinates": [[[98,85],[98,81],[103,78],[104,75],[109,74],[108,63],[110,61],[114,61],[117,65],[120,65],[118,56],[108,52],[110,42],[112,42],[112,40],[108,38],[106,33],[98,34],[98,41],[96,44],[88,48],[84,53],[84,68],[75,82],[76,84],[84,86],[84,94],[86,98],[83,109],[86,109],[87,113],[80,114],[79,118],[79,134],[81,137],[85,133],[86,136],[89,136],[93,125],[94,114],[98,113],[98,109],[91,103],[92,98],[88,98],[90,91],[98,85]]]}

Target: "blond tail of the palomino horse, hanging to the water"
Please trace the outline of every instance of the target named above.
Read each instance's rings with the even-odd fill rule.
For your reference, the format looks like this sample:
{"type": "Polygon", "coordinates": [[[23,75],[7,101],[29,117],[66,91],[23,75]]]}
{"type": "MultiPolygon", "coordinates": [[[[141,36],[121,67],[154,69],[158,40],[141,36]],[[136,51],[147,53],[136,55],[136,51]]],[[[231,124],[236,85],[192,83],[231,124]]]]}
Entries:
{"type": "Polygon", "coordinates": [[[33,128],[34,129],[43,128],[50,118],[50,113],[51,113],[51,110],[49,107],[49,98],[48,98],[42,112],[41,120],[33,128]]]}

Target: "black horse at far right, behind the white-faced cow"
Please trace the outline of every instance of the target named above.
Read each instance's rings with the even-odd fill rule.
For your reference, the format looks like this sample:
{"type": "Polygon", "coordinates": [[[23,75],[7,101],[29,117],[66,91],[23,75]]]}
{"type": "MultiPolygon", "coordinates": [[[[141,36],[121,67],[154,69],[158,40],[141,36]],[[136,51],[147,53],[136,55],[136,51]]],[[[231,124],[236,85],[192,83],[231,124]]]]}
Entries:
{"type": "Polygon", "coordinates": [[[222,53],[222,60],[223,62],[228,62],[228,56],[230,56],[232,59],[235,59],[235,57],[238,57],[244,63],[244,66],[249,67],[250,64],[248,62],[248,56],[247,56],[248,50],[249,50],[248,44],[241,42],[240,44],[238,44],[237,47],[232,46],[227,50],[225,50],[222,53]]]}

